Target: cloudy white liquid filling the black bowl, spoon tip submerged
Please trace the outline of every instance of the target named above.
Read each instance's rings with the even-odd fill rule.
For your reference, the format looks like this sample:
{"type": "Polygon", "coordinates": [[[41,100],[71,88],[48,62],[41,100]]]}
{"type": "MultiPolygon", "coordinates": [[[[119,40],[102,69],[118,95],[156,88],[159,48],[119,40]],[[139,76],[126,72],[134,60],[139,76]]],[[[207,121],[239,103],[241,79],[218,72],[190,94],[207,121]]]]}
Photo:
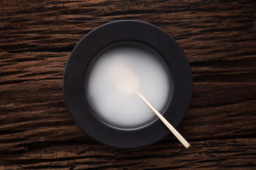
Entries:
{"type": "Polygon", "coordinates": [[[156,115],[134,89],[161,112],[171,96],[170,79],[156,51],[138,42],[124,43],[103,52],[93,63],[85,86],[87,101],[105,123],[139,128],[156,115]]]}

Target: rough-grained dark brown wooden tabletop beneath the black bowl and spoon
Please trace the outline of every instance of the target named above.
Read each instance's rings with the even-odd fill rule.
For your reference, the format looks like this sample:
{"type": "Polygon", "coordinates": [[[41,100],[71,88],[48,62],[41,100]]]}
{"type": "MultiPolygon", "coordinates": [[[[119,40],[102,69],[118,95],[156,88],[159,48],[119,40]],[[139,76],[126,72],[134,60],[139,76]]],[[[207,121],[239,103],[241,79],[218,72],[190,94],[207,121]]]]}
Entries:
{"type": "Polygon", "coordinates": [[[0,169],[256,169],[255,1],[0,1],[0,169]],[[65,63],[110,21],[159,26],[183,47],[193,98],[178,131],[139,149],[101,145],[65,107],[65,63]]]}

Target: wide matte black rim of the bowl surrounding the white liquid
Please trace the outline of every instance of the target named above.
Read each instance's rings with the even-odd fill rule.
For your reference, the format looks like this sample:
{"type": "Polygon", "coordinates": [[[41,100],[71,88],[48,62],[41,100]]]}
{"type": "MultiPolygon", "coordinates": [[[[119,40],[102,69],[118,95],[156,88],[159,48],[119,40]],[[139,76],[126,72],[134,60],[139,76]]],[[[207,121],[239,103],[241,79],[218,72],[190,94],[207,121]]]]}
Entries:
{"type": "Polygon", "coordinates": [[[159,52],[171,73],[169,104],[162,113],[176,127],[191,101],[191,69],[181,47],[164,30],[142,21],[114,21],[88,33],[71,53],[63,75],[65,103],[79,127],[105,145],[120,148],[144,147],[169,135],[156,119],[139,128],[117,128],[102,121],[87,101],[85,86],[91,63],[99,52],[118,42],[139,42],[159,52]]]}

